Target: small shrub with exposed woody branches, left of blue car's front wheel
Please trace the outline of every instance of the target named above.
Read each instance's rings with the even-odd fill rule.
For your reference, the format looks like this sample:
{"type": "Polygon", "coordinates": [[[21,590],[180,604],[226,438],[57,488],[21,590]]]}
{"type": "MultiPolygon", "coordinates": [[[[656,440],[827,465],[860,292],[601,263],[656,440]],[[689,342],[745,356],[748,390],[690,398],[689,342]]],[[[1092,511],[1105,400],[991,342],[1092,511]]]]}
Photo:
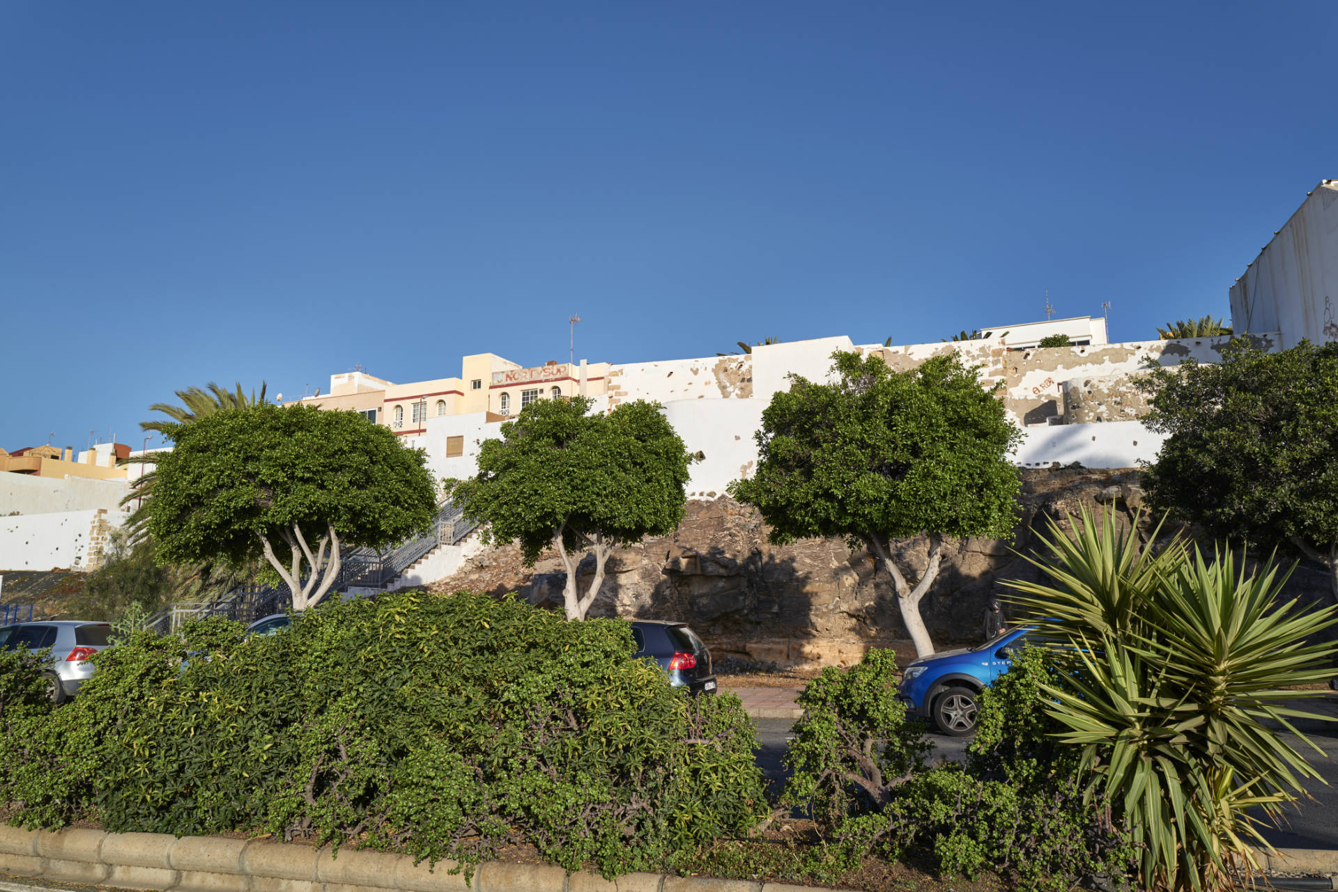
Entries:
{"type": "Polygon", "coordinates": [[[799,694],[804,714],[785,749],[792,774],[781,804],[809,813],[822,832],[886,805],[923,768],[931,744],[896,699],[896,655],[870,649],[850,669],[828,666],[799,694]]]}

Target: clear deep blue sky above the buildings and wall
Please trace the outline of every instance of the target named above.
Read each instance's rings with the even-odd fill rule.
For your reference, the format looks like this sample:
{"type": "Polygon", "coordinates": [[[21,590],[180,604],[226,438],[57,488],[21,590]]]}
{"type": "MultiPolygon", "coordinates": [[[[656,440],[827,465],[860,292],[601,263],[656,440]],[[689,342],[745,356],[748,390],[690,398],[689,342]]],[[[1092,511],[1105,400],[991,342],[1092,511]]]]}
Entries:
{"type": "Polygon", "coordinates": [[[0,4],[0,445],[1227,288],[1338,177],[1333,3],[0,4]]]}

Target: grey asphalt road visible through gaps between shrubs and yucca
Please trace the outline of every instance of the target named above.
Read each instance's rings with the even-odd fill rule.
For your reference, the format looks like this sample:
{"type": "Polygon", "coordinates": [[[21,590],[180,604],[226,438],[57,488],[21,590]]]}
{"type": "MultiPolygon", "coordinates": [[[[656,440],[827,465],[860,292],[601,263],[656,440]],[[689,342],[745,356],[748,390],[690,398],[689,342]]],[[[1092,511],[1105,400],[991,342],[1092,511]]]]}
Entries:
{"type": "MultiPolygon", "coordinates": [[[[1297,736],[1286,732],[1282,734],[1287,742],[1306,756],[1327,784],[1309,781],[1306,786],[1313,798],[1305,801],[1299,809],[1287,809],[1286,824],[1276,828],[1266,825],[1263,834],[1270,843],[1282,848],[1338,849],[1338,697],[1298,701],[1293,706],[1331,719],[1294,722],[1297,730],[1323,750],[1322,756],[1306,746],[1297,736]]],[[[785,776],[781,758],[785,754],[785,740],[789,737],[789,726],[793,722],[788,718],[755,718],[753,723],[757,726],[757,738],[761,744],[757,764],[767,780],[780,781],[785,776]]],[[[961,760],[970,742],[969,738],[941,734],[930,734],[929,738],[934,742],[934,757],[950,761],[961,760]]]]}

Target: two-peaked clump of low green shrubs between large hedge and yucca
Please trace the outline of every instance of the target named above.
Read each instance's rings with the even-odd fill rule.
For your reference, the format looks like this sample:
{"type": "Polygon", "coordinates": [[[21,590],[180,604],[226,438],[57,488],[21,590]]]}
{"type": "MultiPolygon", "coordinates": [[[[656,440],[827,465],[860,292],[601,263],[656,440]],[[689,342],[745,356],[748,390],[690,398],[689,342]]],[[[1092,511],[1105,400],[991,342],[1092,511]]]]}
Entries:
{"type": "Polygon", "coordinates": [[[1056,671],[1041,651],[1024,651],[982,697],[967,765],[930,769],[923,726],[896,699],[891,651],[824,669],[800,694],[804,715],[785,756],[795,774],[781,797],[812,814],[827,841],[809,859],[814,875],[913,851],[945,875],[1013,871],[1024,888],[1125,873],[1128,834],[1100,797],[1086,797],[1078,752],[1048,737],[1061,726],[1040,691],[1056,671]]]}

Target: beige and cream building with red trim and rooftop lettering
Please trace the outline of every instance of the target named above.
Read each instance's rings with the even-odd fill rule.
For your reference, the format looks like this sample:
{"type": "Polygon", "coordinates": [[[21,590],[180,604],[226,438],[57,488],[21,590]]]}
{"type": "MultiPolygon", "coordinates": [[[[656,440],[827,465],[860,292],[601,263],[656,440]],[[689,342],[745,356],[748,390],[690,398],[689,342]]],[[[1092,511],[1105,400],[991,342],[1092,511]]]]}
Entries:
{"type": "Polygon", "coordinates": [[[365,372],[330,376],[328,395],[290,400],[284,405],[309,404],[322,409],[352,409],[389,427],[400,436],[427,431],[427,420],[447,415],[487,413],[488,420],[518,415],[534,400],[603,396],[609,364],[550,361],[534,368],[495,353],[475,353],[460,360],[460,376],[393,384],[365,372]]]}

